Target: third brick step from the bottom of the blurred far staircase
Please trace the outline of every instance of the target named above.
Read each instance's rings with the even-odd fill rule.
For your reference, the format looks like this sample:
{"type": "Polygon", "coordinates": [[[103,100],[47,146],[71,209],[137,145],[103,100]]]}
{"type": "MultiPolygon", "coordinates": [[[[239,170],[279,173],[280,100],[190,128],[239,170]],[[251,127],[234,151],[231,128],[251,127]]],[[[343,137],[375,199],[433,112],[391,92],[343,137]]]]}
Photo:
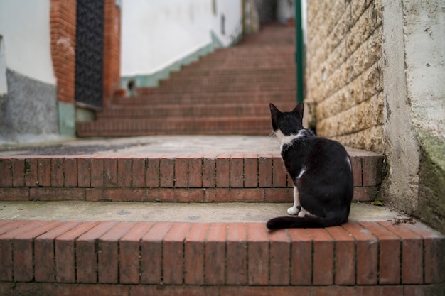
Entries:
{"type": "Polygon", "coordinates": [[[172,93],[168,94],[158,93],[154,94],[154,90],[151,88],[138,89],[138,95],[135,97],[114,97],[114,104],[221,104],[223,102],[229,103],[253,103],[253,102],[295,102],[296,89],[286,89],[280,91],[250,91],[250,92],[193,92],[193,93],[172,93]]]}

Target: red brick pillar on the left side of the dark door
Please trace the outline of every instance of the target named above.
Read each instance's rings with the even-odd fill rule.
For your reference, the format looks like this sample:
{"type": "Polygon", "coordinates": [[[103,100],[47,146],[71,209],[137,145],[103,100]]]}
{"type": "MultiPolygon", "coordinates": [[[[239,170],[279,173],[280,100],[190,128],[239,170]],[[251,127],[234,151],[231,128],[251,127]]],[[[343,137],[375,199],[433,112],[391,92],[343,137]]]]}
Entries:
{"type": "Polygon", "coordinates": [[[76,1],[50,2],[51,55],[57,79],[57,99],[74,103],[76,1]]]}

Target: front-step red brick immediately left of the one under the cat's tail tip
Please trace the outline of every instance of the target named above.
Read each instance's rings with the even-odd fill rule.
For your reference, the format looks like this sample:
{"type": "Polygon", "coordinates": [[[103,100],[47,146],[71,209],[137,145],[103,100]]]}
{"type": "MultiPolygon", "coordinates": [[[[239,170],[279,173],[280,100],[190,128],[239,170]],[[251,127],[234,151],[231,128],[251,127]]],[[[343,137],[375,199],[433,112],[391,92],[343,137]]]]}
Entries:
{"type": "Polygon", "coordinates": [[[247,285],[246,224],[228,224],[226,249],[227,285],[247,285]]]}

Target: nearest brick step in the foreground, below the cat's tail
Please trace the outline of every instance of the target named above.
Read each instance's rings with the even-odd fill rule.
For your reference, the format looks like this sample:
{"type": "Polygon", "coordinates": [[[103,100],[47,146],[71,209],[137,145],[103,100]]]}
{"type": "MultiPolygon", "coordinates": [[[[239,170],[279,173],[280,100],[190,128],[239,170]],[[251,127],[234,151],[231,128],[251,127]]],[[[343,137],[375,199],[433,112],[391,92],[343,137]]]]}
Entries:
{"type": "Polygon", "coordinates": [[[422,224],[0,220],[0,294],[443,295],[445,238],[422,224]]]}

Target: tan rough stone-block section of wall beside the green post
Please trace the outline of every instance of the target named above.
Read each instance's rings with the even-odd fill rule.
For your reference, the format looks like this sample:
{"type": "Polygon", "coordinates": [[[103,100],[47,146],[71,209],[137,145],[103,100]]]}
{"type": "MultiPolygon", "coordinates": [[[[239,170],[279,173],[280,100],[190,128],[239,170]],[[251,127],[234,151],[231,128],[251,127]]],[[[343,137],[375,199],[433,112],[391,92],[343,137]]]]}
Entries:
{"type": "Polygon", "coordinates": [[[308,1],[306,102],[318,136],[382,152],[381,0],[308,1]]]}

